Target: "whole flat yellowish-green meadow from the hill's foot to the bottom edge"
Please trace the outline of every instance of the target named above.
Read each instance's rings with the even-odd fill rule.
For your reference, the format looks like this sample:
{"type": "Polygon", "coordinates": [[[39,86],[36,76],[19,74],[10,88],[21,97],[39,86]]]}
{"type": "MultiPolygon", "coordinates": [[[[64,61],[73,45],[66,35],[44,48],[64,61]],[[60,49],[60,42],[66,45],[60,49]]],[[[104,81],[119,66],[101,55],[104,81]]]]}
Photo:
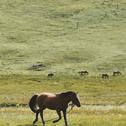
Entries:
{"type": "MultiPolygon", "coordinates": [[[[27,105],[35,92],[74,90],[80,94],[82,107],[74,108],[68,114],[69,126],[125,126],[125,87],[124,76],[103,80],[100,77],[58,76],[48,79],[39,75],[4,75],[1,76],[0,87],[0,101],[3,103],[0,109],[0,125],[32,126],[34,114],[23,104],[27,105]]],[[[46,120],[55,117],[54,111],[45,111],[46,120]]],[[[41,125],[41,119],[36,125],[41,125]]],[[[63,125],[63,120],[56,124],[47,122],[47,126],[63,125]]]]}

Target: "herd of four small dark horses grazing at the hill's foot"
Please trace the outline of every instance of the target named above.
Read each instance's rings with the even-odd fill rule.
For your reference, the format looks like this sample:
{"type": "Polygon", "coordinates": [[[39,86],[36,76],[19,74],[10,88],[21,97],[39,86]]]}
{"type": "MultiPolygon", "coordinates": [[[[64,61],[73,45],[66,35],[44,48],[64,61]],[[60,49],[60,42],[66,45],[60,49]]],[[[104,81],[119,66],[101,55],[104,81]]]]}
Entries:
{"type": "MultiPolygon", "coordinates": [[[[89,74],[89,72],[87,70],[81,70],[78,73],[80,74],[80,76],[85,76],[85,75],[89,74]]],[[[119,76],[121,74],[122,73],[120,71],[113,71],[112,76],[119,76]]],[[[52,78],[54,76],[54,73],[49,73],[47,76],[48,76],[48,78],[52,78]]],[[[109,75],[107,73],[103,73],[103,74],[101,74],[101,77],[103,79],[108,79],[109,75]]]]}

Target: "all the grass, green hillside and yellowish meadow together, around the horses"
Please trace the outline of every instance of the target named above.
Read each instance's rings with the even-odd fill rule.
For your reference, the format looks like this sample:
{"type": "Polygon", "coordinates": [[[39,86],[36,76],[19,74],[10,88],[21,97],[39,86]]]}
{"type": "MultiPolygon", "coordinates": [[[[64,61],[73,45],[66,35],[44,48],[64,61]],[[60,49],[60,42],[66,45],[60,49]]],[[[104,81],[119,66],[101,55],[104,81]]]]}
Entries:
{"type": "Polygon", "coordinates": [[[31,126],[30,97],[67,90],[82,104],[70,126],[125,126],[125,33],[125,0],[0,0],[0,126],[31,126]]]}

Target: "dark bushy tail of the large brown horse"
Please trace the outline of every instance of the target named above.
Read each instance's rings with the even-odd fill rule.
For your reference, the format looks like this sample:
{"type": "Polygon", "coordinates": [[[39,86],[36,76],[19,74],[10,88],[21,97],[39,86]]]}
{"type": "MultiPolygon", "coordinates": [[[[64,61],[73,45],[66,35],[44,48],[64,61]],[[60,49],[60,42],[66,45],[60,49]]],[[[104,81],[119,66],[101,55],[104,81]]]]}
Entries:
{"type": "Polygon", "coordinates": [[[38,95],[33,95],[29,101],[29,107],[32,110],[32,112],[37,113],[37,97],[38,95]]]}

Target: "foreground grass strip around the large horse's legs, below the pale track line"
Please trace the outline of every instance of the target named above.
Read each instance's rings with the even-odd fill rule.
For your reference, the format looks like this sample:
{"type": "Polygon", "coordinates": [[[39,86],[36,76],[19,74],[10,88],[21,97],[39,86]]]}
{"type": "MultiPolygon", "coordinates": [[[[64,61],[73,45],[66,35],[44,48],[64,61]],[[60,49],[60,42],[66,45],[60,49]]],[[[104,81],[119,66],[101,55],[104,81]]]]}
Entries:
{"type": "MultiPolygon", "coordinates": [[[[117,108],[93,108],[85,107],[81,109],[75,108],[68,114],[69,126],[125,126],[126,111],[125,109],[117,108]]],[[[0,110],[0,125],[1,126],[32,126],[34,115],[26,108],[9,108],[0,110]]],[[[45,111],[45,120],[47,126],[63,126],[62,119],[56,124],[52,120],[57,117],[54,111],[45,111]],[[51,120],[48,120],[51,119],[51,120]]],[[[36,123],[41,126],[41,119],[36,123]]]]}

